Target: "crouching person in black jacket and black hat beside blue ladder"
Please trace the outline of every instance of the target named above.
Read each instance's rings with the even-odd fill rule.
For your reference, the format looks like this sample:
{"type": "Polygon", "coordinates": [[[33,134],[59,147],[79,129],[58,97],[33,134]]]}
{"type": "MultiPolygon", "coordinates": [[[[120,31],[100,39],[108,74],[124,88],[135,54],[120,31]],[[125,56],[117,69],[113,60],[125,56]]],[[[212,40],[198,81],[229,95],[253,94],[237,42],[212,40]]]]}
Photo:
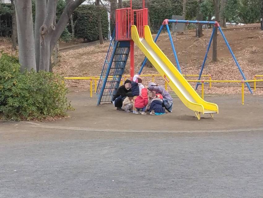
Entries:
{"type": "Polygon", "coordinates": [[[122,102],[123,102],[123,97],[126,97],[127,94],[131,92],[131,81],[130,80],[125,80],[124,85],[120,86],[112,98],[112,103],[114,104],[115,107],[117,107],[117,110],[122,110],[122,102]]]}

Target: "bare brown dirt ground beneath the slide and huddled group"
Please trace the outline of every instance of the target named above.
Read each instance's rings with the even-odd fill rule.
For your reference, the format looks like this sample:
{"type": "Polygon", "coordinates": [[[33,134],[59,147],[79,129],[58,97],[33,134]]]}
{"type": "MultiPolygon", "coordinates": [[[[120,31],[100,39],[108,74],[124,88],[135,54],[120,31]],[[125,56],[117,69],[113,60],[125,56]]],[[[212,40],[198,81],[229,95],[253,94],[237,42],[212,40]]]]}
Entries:
{"type": "Polygon", "coordinates": [[[263,97],[260,96],[246,95],[245,105],[241,105],[241,95],[205,95],[205,100],[218,104],[219,114],[215,114],[214,119],[201,115],[198,120],[194,112],[174,96],[173,113],[151,116],[117,111],[112,104],[96,106],[97,97],[89,98],[88,94],[71,91],[68,99],[75,108],[68,112],[71,117],[34,122],[35,127],[109,132],[224,132],[263,127],[263,97]]]}

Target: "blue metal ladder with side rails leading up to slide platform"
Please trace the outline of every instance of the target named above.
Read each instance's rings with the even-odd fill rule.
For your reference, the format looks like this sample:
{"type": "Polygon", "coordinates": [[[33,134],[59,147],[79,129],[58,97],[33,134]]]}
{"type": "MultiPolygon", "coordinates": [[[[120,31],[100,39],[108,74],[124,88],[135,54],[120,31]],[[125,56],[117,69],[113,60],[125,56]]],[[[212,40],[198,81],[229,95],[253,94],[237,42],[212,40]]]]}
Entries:
{"type": "Polygon", "coordinates": [[[129,53],[129,41],[116,41],[115,37],[112,38],[97,85],[97,106],[101,102],[112,101],[119,88],[129,53]]]}

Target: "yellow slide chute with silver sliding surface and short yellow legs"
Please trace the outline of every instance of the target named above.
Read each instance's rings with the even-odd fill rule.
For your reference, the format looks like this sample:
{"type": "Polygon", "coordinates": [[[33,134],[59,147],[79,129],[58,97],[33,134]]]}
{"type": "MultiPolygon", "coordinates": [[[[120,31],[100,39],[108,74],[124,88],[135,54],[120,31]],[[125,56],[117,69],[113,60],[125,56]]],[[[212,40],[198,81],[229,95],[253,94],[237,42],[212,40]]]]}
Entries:
{"type": "Polygon", "coordinates": [[[166,80],[183,104],[196,113],[198,119],[200,119],[200,113],[210,114],[212,118],[214,113],[218,113],[217,104],[204,101],[154,43],[149,26],[144,26],[144,38],[140,38],[136,26],[132,25],[131,39],[166,80]]]}

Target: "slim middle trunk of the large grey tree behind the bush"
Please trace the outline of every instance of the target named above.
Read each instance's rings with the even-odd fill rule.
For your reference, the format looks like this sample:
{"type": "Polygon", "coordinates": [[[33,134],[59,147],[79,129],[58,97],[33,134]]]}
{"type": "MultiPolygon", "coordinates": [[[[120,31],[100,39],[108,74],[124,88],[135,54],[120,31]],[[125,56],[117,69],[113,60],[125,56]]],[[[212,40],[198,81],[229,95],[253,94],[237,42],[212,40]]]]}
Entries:
{"type": "Polygon", "coordinates": [[[35,53],[37,71],[39,70],[40,62],[40,27],[43,25],[47,11],[47,1],[37,0],[36,3],[36,19],[35,19],[35,53]]]}

